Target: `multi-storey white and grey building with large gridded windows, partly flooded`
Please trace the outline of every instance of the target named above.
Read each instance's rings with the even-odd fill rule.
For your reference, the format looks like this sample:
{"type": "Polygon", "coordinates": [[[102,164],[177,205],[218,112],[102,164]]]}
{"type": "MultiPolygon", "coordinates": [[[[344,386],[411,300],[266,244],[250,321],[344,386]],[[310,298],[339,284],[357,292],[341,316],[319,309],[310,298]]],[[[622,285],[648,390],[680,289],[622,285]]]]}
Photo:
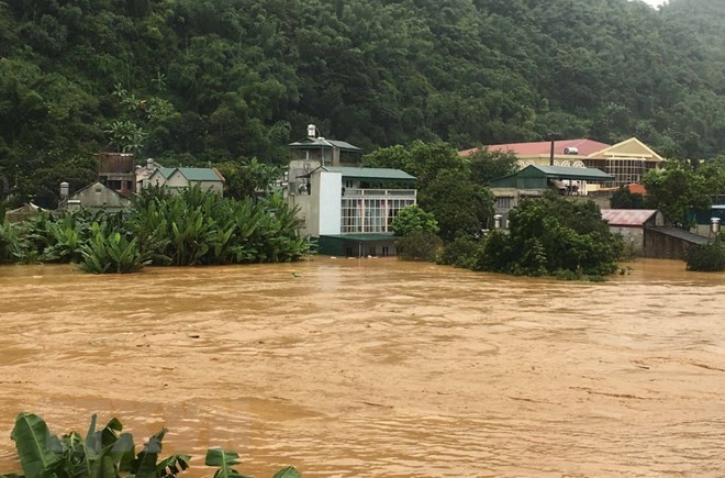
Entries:
{"type": "Polygon", "coordinates": [[[311,136],[289,145],[287,201],[299,208],[301,232],[335,256],[395,255],[390,227],[416,203],[415,178],[400,169],[360,167],[360,148],[311,136]]]}

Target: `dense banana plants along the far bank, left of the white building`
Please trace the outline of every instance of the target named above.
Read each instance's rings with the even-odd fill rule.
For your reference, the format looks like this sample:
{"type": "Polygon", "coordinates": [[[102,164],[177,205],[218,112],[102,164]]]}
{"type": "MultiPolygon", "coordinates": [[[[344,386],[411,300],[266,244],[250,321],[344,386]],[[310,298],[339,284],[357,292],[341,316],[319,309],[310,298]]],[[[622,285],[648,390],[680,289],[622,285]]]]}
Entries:
{"type": "Polygon", "coordinates": [[[77,264],[93,274],[291,262],[308,249],[281,196],[235,200],[199,188],[146,189],[123,212],[44,211],[0,225],[0,262],[77,264]]]}

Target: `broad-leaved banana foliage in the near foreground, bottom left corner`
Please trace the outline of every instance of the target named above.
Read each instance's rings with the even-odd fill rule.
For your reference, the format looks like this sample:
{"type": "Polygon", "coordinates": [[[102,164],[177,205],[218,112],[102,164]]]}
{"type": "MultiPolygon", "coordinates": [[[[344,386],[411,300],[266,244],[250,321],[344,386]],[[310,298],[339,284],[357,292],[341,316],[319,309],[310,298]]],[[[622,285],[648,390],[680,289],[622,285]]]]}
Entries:
{"type": "MultiPolygon", "coordinates": [[[[70,432],[58,438],[51,434],[43,419],[32,413],[20,413],[11,437],[24,475],[1,475],[0,478],[174,478],[189,468],[189,455],[171,455],[159,459],[164,429],[136,454],[130,433],[121,433],[123,425],[116,419],[96,430],[96,415],[86,437],[70,432]]],[[[204,464],[216,468],[214,478],[243,478],[234,468],[237,453],[210,448],[204,464]]],[[[300,478],[293,467],[286,467],[274,478],[300,478]]]]}

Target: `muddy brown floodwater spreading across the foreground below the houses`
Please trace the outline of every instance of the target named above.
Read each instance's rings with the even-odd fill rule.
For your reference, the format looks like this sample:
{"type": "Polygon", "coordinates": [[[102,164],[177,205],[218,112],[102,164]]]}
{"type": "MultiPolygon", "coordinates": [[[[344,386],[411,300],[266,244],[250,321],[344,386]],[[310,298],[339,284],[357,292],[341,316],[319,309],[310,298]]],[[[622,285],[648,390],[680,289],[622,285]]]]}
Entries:
{"type": "Polygon", "coordinates": [[[211,476],[725,476],[725,274],[607,282],[395,259],[0,267],[0,474],[21,411],[118,416],[211,476]]]}

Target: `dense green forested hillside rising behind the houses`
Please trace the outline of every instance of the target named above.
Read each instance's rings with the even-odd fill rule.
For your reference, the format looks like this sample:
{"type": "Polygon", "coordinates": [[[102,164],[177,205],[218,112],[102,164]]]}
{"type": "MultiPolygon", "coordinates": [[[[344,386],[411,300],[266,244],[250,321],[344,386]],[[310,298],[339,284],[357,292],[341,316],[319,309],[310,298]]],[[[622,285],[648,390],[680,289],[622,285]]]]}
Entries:
{"type": "Polygon", "coordinates": [[[24,199],[101,149],[281,164],[310,122],[367,151],[557,133],[707,158],[724,79],[722,0],[5,0],[0,177],[24,199]]]}

